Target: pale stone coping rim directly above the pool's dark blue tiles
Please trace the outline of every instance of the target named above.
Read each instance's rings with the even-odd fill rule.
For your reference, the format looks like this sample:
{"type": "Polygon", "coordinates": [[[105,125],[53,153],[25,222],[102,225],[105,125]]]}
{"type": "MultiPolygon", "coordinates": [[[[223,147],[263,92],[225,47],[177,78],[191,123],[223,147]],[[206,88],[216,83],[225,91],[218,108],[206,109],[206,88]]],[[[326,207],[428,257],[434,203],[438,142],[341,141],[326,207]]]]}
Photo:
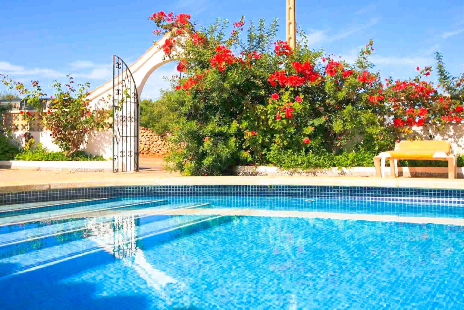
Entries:
{"type": "Polygon", "coordinates": [[[270,177],[270,176],[221,176],[221,177],[150,177],[131,179],[44,182],[37,184],[1,185],[0,193],[32,190],[75,189],[104,186],[149,186],[149,185],[324,185],[324,186],[367,186],[423,189],[464,190],[463,179],[408,178],[408,177],[270,177]]]}

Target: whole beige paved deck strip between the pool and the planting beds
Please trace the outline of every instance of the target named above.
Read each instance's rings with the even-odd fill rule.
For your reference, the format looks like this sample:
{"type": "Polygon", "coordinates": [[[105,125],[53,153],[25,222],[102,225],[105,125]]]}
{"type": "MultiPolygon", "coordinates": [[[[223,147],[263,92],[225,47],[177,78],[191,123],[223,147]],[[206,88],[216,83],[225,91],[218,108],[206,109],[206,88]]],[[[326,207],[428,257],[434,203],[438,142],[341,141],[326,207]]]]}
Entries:
{"type": "Polygon", "coordinates": [[[0,169],[0,192],[124,185],[332,185],[464,189],[464,179],[416,177],[182,177],[163,170],[69,172],[0,169]]]}

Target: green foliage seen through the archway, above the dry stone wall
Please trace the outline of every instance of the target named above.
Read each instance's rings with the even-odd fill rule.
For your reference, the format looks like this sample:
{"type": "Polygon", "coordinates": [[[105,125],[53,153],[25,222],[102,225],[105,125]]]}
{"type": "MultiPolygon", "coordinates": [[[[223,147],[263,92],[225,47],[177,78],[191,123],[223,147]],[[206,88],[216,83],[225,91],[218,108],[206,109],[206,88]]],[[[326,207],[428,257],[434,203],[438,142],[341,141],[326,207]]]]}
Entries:
{"type": "Polygon", "coordinates": [[[176,96],[178,95],[173,92],[163,92],[161,98],[156,101],[142,100],[140,102],[140,126],[147,127],[158,135],[167,133],[178,117],[169,106],[170,102],[176,100],[176,96]]]}

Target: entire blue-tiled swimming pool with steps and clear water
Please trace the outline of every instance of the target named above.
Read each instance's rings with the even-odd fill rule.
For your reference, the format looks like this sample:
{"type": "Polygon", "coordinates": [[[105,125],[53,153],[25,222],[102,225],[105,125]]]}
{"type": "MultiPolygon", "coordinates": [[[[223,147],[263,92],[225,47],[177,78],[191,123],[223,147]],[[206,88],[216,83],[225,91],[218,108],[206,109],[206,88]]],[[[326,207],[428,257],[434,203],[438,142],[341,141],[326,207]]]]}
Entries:
{"type": "Polygon", "coordinates": [[[1,309],[464,307],[464,191],[150,186],[0,196],[1,309]]]}

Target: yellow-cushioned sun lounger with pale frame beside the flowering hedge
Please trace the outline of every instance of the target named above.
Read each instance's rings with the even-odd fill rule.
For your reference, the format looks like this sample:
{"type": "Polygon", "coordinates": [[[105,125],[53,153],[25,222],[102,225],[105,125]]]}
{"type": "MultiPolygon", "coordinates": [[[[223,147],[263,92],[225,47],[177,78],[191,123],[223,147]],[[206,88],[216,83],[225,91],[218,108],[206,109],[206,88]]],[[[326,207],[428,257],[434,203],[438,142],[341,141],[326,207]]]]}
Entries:
{"type": "Polygon", "coordinates": [[[385,177],[385,162],[390,160],[390,171],[392,177],[398,176],[398,160],[446,160],[448,161],[448,178],[457,177],[456,149],[448,141],[400,141],[395,145],[394,151],[381,152],[374,157],[375,174],[377,177],[385,177]],[[381,163],[380,163],[381,161],[381,163]]]}

